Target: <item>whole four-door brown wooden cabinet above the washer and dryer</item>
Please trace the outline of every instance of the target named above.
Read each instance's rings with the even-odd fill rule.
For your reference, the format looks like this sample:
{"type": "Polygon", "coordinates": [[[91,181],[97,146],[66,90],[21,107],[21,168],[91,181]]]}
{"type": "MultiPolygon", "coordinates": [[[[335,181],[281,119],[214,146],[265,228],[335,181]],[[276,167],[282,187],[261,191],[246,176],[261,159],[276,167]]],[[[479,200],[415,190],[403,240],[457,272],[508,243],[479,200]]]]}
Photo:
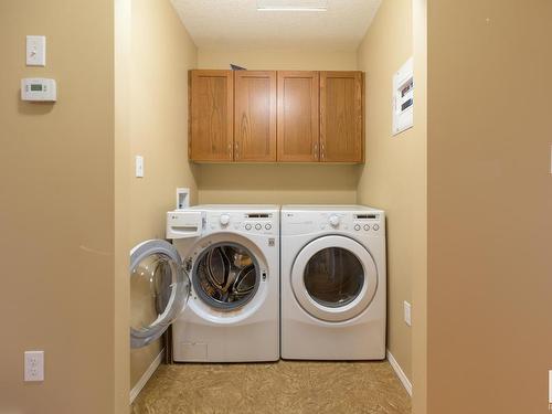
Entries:
{"type": "Polygon", "coordinates": [[[362,72],[190,72],[190,159],[362,162],[362,72]]]}

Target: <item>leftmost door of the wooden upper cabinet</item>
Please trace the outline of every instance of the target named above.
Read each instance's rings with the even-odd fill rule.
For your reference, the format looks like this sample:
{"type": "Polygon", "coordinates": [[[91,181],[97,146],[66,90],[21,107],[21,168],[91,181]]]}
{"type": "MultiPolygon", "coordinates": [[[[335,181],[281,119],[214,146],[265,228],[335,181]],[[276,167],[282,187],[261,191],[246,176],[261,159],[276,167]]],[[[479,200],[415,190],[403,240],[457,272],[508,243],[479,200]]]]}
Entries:
{"type": "Polygon", "coordinates": [[[189,155],[193,161],[232,161],[232,71],[190,71],[189,155]]]}

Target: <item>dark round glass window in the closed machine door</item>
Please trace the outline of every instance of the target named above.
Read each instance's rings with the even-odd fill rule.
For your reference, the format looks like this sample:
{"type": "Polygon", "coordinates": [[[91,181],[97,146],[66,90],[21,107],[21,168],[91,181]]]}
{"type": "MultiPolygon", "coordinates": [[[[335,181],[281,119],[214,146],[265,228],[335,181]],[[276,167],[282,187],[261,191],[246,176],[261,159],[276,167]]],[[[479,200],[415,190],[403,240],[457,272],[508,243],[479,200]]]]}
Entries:
{"type": "Polygon", "coordinates": [[[337,308],[353,301],[362,290],[364,269],[357,256],[341,247],[317,252],[305,267],[305,287],[318,304],[337,308]]]}

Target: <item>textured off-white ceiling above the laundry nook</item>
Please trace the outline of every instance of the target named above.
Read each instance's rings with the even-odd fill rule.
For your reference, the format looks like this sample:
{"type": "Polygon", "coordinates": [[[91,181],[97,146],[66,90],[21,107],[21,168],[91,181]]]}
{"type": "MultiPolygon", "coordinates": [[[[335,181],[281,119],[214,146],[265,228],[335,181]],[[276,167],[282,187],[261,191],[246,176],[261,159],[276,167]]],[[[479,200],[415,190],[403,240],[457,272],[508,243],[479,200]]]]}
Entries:
{"type": "Polygon", "coordinates": [[[257,0],[171,0],[198,47],[339,50],[357,49],[381,1],[328,0],[328,11],[258,11],[257,0]]]}

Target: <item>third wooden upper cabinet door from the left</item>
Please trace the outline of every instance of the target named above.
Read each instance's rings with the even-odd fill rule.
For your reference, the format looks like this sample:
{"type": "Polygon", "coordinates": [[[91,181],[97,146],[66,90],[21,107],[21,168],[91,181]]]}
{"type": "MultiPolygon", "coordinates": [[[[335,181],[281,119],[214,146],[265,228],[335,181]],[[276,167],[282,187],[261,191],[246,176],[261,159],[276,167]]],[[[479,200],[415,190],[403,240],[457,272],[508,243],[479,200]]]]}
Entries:
{"type": "Polygon", "coordinates": [[[278,161],[318,161],[318,72],[278,72],[278,161]]]}

